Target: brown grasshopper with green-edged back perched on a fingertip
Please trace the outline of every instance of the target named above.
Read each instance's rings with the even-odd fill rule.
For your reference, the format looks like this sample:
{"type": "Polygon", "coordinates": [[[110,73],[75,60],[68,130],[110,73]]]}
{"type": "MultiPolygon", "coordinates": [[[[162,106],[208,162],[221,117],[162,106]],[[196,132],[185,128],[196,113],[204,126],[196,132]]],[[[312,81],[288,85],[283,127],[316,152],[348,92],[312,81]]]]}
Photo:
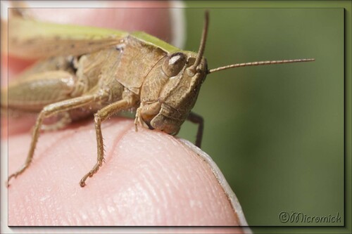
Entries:
{"type": "Polygon", "coordinates": [[[31,164],[40,131],[58,117],[54,128],[94,114],[97,159],[80,180],[86,185],[103,163],[101,122],[122,110],[136,110],[134,124],[175,135],[185,120],[198,124],[196,145],[201,147],[203,118],[191,109],[207,74],[234,67],[307,62],[314,59],[271,60],[239,63],[208,70],[203,57],[209,16],[198,52],[182,51],[144,32],[122,32],[94,27],[56,25],[25,20],[15,15],[9,20],[9,53],[41,60],[1,90],[1,108],[37,112],[27,160],[18,171],[31,164]],[[130,67],[135,67],[131,69],[130,67]],[[8,104],[3,100],[8,99],[8,104]]]}

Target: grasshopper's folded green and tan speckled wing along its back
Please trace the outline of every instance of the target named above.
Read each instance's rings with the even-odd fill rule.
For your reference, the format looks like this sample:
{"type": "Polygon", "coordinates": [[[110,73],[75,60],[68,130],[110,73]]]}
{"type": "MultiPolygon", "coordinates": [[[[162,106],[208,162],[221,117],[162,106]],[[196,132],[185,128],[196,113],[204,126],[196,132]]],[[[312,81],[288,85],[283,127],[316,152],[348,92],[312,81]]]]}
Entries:
{"type": "Polygon", "coordinates": [[[121,44],[127,35],[127,32],[99,27],[12,17],[8,20],[8,52],[20,58],[80,56],[121,44]]]}

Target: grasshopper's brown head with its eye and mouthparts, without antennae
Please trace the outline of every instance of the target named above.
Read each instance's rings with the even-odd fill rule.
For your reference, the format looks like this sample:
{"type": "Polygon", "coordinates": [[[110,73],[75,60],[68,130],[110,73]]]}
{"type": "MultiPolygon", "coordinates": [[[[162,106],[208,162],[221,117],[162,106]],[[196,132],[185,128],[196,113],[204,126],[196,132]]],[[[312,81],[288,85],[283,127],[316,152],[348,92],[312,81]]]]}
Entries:
{"type": "Polygon", "coordinates": [[[196,103],[206,78],[207,63],[198,53],[179,51],[165,56],[153,67],[141,91],[139,117],[149,129],[177,134],[196,103]],[[197,64],[198,63],[198,64],[197,64]]]}

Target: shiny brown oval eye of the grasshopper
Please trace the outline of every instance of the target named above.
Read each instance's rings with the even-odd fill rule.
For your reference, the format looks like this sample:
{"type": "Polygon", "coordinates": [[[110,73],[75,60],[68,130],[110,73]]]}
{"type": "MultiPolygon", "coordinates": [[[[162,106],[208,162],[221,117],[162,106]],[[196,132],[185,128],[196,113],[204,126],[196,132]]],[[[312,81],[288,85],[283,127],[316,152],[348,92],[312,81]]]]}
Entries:
{"type": "Polygon", "coordinates": [[[168,77],[175,77],[182,70],[186,61],[184,53],[173,53],[164,60],[161,67],[168,77]]]}

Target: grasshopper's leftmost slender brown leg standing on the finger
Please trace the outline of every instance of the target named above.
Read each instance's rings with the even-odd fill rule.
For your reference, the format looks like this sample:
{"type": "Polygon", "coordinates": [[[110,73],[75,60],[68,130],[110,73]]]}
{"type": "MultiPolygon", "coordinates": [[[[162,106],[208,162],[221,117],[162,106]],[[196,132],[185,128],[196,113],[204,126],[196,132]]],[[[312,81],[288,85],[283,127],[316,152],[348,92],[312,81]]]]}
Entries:
{"type": "Polygon", "coordinates": [[[22,174],[23,171],[25,171],[30,166],[30,163],[32,162],[33,155],[34,155],[34,149],[35,149],[35,146],[37,145],[37,141],[39,138],[39,133],[40,133],[40,130],[42,129],[43,120],[46,117],[50,117],[51,115],[55,115],[59,112],[65,112],[68,110],[72,110],[74,108],[80,108],[83,105],[87,105],[91,103],[94,100],[94,98],[96,98],[96,96],[82,96],[82,97],[63,100],[58,103],[46,105],[43,108],[43,110],[39,113],[39,116],[37,117],[37,122],[34,125],[34,129],[32,132],[32,142],[30,143],[30,151],[28,152],[27,159],[25,160],[25,164],[23,164],[23,166],[18,171],[11,174],[11,176],[8,176],[8,186],[10,185],[9,182],[11,181],[12,178],[16,178],[18,175],[22,174]]]}

